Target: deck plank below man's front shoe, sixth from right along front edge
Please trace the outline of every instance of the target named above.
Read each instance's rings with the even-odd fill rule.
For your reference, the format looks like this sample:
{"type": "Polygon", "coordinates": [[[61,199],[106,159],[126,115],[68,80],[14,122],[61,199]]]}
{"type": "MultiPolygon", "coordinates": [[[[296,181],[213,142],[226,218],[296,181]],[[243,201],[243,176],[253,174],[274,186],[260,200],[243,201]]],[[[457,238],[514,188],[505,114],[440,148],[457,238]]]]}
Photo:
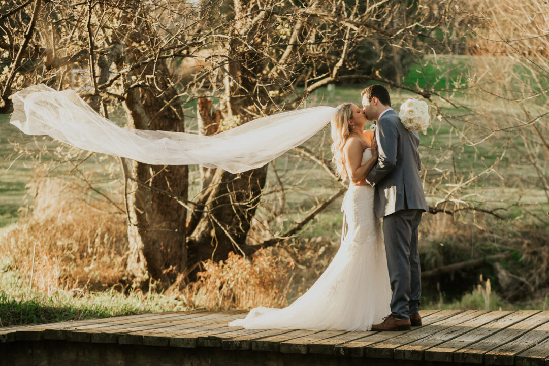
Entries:
{"type": "Polygon", "coordinates": [[[442,310],[437,314],[447,314],[450,317],[444,320],[439,320],[436,323],[423,325],[416,330],[406,331],[404,334],[392,337],[383,342],[378,342],[373,345],[368,345],[364,348],[365,357],[368,358],[394,358],[395,348],[404,346],[410,342],[422,339],[430,334],[440,331],[447,326],[453,326],[465,322],[471,317],[475,317],[477,310],[456,311],[442,310]],[[444,312],[444,313],[443,313],[444,312]],[[451,315],[453,314],[453,316],[451,315]]]}

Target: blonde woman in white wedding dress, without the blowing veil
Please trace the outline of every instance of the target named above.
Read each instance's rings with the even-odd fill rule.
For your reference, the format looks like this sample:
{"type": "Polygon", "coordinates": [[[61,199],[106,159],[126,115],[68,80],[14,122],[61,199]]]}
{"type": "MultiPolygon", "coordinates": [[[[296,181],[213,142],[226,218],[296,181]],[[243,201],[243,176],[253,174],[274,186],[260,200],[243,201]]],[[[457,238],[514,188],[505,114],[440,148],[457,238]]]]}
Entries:
{"type": "Polygon", "coordinates": [[[337,254],[320,278],[289,306],[256,307],[229,326],[246,329],[370,330],[391,312],[391,289],[380,219],[374,214],[374,188],[366,174],[377,162],[372,131],[355,104],[338,106],[332,123],[337,173],[349,177],[343,198],[343,230],[337,254]],[[349,229],[345,233],[345,221],[349,229]]]}

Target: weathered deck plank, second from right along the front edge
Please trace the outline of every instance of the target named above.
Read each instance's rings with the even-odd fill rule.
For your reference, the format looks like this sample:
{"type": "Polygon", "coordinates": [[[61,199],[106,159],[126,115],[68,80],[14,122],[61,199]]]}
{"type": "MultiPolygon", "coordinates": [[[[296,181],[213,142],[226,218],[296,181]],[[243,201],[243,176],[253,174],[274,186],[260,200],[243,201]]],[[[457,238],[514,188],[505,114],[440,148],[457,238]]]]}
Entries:
{"type": "MultiPolygon", "coordinates": [[[[484,355],[484,361],[488,365],[514,365],[514,357],[529,348],[539,345],[549,339],[549,323],[523,334],[512,342],[503,344],[484,355]]],[[[545,356],[549,357],[549,349],[545,356]]]]}

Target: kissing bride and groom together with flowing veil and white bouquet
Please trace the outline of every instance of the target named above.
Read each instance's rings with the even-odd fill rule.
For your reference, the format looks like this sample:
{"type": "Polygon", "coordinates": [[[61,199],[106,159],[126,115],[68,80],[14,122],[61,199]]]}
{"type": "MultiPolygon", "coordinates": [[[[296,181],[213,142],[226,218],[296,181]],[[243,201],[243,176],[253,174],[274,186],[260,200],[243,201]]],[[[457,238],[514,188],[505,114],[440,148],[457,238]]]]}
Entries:
{"type": "Polygon", "coordinates": [[[418,226],[428,207],[419,178],[417,131],[428,126],[427,103],[408,99],[397,114],[381,85],[367,87],[361,97],[362,109],[352,103],[316,106],[202,136],[122,128],[75,91],[35,85],[10,97],[10,123],[27,134],[48,134],[80,149],[144,164],[199,164],[238,173],[264,166],[330,122],[336,172],[351,181],[341,206],[339,250],[292,304],[253,308],[229,326],[406,330],[421,325],[418,226]],[[364,131],[367,121],[377,121],[375,132],[364,131]]]}

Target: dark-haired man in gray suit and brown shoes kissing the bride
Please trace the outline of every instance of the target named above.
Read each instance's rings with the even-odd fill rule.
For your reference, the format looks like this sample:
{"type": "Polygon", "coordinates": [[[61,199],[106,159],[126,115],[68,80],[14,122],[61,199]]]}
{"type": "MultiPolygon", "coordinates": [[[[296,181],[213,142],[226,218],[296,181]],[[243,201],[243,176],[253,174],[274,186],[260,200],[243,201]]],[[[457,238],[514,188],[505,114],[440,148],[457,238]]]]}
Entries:
{"type": "Polygon", "coordinates": [[[410,330],[410,326],[421,326],[418,227],[423,211],[428,210],[419,178],[419,134],[400,123],[383,86],[369,86],[361,95],[366,117],[378,121],[374,143],[379,159],[366,179],[376,188],[376,216],[383,217],[393,291],[391,314],[383,323],[372,325],[372,330],[410,330]]]}

